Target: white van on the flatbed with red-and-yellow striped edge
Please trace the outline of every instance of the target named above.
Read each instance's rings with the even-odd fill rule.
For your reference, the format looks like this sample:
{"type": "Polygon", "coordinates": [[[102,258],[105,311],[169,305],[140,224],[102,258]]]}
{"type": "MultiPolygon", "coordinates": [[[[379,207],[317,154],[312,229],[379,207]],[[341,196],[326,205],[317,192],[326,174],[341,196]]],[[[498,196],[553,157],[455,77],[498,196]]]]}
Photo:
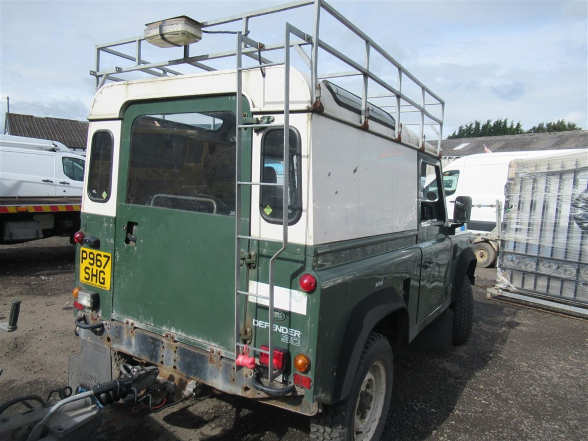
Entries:
{"type": "Polygon", "coordinates": [[[2,135],[0,197],[80,197],[85,162],[58,142],[2,135]]]}

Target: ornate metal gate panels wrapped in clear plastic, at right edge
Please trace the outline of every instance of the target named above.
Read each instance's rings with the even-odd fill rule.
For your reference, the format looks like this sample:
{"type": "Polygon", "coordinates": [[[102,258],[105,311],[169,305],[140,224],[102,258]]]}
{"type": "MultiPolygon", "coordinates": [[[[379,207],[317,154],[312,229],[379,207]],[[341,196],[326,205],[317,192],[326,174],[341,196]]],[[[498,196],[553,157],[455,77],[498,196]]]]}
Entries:
{"type": "Polygon", "coordinates": [[[497,288],[588,306],[588,150],[512,161],[497,288]]]}

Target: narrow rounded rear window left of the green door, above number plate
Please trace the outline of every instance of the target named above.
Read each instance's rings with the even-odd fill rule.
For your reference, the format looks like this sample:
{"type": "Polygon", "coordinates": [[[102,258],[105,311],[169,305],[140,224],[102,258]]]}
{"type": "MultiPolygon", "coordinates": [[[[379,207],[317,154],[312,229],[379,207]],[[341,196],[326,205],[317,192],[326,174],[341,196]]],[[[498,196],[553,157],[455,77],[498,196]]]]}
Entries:
{"type": "Polygon", "coordinates": [[[111,196],[112,152],[111,132],[96,132],[92,136],[88,173],[88,197],[94,202],[106,202],[111,196]]]}

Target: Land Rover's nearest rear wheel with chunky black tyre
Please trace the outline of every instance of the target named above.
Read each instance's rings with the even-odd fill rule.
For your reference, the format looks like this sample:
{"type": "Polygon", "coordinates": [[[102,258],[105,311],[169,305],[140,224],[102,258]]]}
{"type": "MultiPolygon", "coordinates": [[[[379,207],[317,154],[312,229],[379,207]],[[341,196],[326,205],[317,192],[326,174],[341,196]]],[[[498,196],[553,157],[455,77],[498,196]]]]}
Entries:
{"type": "Polygon", "coordinates": [[[349,396],[324,406],[310,420],[310,438],[376,441],[382,436],[392,396],[392,349],[382,334],[368,337],[349,396]]]}

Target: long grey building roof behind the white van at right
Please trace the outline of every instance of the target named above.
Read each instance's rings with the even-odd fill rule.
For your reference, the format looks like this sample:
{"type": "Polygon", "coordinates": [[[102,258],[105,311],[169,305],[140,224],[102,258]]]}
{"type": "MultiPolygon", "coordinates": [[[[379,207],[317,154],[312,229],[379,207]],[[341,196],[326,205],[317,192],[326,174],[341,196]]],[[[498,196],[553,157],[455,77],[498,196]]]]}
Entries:
{"type": "Polygon", "coordinates": [[[588,130],[445,139],[442,142],[443,158],[484,153],[484,145],[492,152],[585,149],[588,148],[588,130]]]}

